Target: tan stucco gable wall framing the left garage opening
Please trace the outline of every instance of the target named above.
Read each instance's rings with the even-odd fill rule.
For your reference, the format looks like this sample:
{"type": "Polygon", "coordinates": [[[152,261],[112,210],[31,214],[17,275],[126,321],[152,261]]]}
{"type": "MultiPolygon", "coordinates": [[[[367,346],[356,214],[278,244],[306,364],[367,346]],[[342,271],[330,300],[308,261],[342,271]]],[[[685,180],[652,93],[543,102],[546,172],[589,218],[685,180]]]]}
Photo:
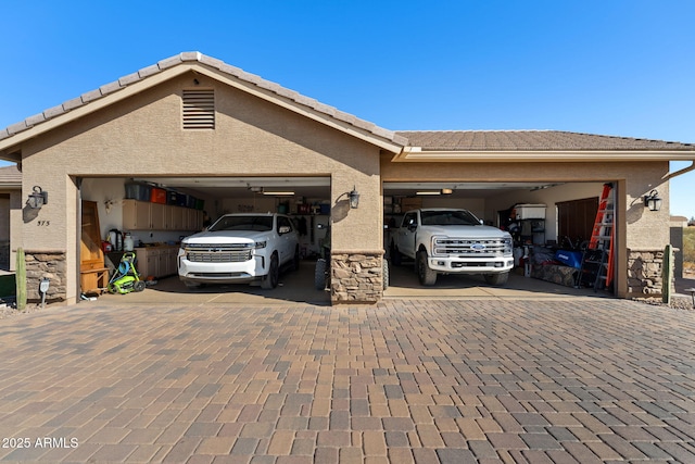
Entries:
{"type": "MultiPolygon", "coordinates": [[[[23,196],[27,186],[49,191],[49,204],[24,224],[25,247],[64,250],[77,269],[78,177],[156,175],[320,175],[331,177],[331,195],[355,186],[358,210],[334,204],[333,246],[381,247],[379,149],[243,91],[195,76],[214,88],[216,128],[182,130],[182,76],[140,93],[23,147],[23,196]]],[[[70,274],[70,271],[68,271],[70,274]]],[[[75,273],[76,276],[76,273],[75,273]]],[[[68,278],[67,299],[77,293],[68,278]]],[[[70,277],[70,276],[68,276],[70,277]]]]}

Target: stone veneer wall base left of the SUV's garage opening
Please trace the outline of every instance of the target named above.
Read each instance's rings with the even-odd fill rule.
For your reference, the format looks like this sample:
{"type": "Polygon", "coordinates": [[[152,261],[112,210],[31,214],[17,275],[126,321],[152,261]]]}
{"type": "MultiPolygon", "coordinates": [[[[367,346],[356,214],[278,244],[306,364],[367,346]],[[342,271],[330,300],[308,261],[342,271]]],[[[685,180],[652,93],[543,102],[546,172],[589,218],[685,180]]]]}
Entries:
{"type": "Polygon", "coordinates": [[[42,278],[50,281],[46,301],[67,299],[67,274],[65,252],[58,250],[25,250],[26,294],[28,301],[41,301],[39,284],[42,278]]]}

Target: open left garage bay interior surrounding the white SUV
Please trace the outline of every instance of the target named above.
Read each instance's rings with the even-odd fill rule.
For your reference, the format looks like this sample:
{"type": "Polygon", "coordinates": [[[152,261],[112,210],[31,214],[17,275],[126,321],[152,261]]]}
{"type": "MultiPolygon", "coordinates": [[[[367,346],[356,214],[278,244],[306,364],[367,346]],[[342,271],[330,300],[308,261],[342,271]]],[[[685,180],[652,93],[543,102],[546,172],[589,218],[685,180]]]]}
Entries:
{"type": "MultiPolygon", "coordinates": [[[[330,296],[314,288],[314,263],[325,239],[330,214],[330,177],[139,177],[84,178],[86,204],[99,220],[93,237],[80,241],[80,298],[127,298],[130,302],[309,302],[327,304],[330,296]],[[161,196],[156,197],[156,196],[161,196]],[[299,269],[286,266],[277,286],[219,284],[188,289],[178,277],[181,240],[200,233],[226,214],[281,213],[290,217],[298,237],[299,269]],[[126,240],[127,237],[127,240],[126,240]],[[88,242],[88,243],[87,243],[88,242]],[[109,294],[108,280],[118,271],[125,244],[134,243],[137,271],[147,281],[142,292],[109,294]],[[86,251],[87,250],[87,251],[86,251]],[[89,250],[98,250],[90,253],[89,250]],[[98,254],[94,256],[94,254],[98,254]],[[93,279],[83,260],[101,259],[108,276],[93,279]],[[106,281],[104,281],[104,279],[106,281]]],[[[216,250],[215,250],[216,251],[216,250]]],[[[121,300],[122,301],[122,300],[121,300]]]]}

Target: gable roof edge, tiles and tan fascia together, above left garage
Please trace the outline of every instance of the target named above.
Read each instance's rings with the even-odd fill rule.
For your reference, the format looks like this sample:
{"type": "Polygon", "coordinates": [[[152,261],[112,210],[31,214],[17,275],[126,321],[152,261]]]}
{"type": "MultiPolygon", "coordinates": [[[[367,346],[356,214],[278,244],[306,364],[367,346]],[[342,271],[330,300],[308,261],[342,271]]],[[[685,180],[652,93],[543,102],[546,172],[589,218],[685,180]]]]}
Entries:
{"type": "Polygon", "coordinates": [[[266,80],[200,52],[184,52],[162,60],[136,73],[83,93],[58,106],[0,130],[0,155],[23,140],[36,137],[74,118],[128,98],[164,80],[194,70],[225,81],[260,98],[305,115],[306,117],[345,131],[392,152],[399,152],[407,140],[395,133],[342,112],[333,106],[304,97],[294,90],[266,80]]]}

